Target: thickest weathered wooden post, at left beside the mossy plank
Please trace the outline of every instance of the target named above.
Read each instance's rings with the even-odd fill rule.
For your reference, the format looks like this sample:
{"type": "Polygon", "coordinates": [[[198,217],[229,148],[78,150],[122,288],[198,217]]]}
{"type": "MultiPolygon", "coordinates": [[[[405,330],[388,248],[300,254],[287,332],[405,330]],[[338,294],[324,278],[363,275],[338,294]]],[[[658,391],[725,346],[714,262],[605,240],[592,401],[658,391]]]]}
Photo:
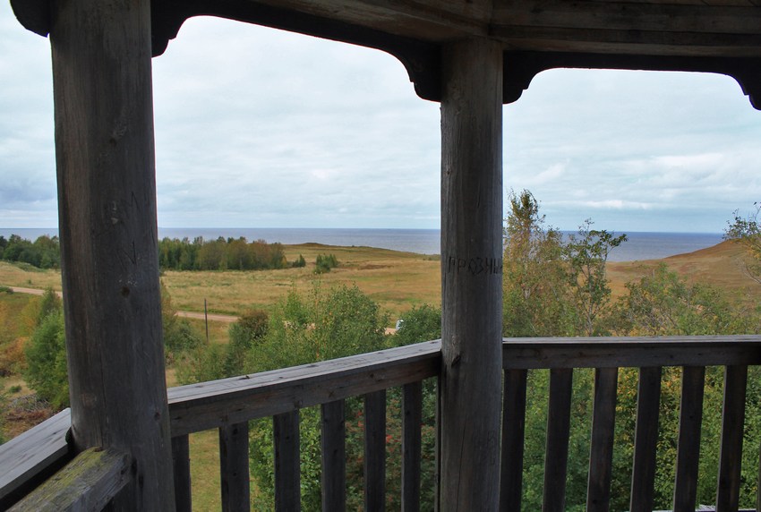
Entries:
{"type": "Polygon", "coordinates": [[[131,456],[115,510],[174,510],[149,0],[51,3],[72,435],[131,456]]]}

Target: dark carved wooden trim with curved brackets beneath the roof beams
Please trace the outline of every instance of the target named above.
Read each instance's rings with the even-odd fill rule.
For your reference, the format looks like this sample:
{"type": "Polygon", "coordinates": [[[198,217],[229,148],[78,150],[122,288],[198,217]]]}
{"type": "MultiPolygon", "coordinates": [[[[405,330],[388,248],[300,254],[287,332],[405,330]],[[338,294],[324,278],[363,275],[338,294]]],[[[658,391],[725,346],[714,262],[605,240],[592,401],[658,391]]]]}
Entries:
{"type": "MultiPolygon", "coordinates": [[[[50,0],[11,0],[13,13],[26,29],[47,36],[51,23],[50,0]]],[[[151,2],[153,55],[166,51],[185,20],[209,15],[256,23],[317,38],[328,38],[394,55],[404,64],[420,98],[440,101],[440,45],[406,38],[343,21],[297,13],[271,5],[241,0],[154,0],[151,2]]],[[[504,103],[512,103],[528,89],[534,76],[555,68],[595,68],[645,71],[721,73],[734,78],[750,104],[761,110],[761,58],[678,55],[613,55],[569,52],[506,51],[504,103]]]]}

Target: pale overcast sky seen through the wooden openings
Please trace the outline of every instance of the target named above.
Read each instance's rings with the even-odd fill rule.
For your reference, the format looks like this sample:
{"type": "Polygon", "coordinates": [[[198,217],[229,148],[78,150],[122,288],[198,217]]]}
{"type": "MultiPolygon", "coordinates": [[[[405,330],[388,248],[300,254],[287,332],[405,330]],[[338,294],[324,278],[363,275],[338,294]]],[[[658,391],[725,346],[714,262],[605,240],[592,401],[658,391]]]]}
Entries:
{"type": "MultiPolygon", "coordinates": [[[[158,226],[440,226],[439,105],[394,57],[203,18],[153,79],[158,226]]],[[[57,226],[51,82],[0,2],[0,227],[57,226]]],[[[545,72],[504,127],[506,197],[561,229],[719,233],[761,201],[761,112],[725,76],[545,72]]]]}

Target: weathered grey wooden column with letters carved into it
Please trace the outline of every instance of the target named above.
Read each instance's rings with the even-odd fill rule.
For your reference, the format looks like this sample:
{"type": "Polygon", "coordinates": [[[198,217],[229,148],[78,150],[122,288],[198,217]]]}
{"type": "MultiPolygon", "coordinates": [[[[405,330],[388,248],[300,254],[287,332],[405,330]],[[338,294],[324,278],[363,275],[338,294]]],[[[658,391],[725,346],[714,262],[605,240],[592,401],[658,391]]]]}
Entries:
{"type": "Polygon", "coordinates": [[[502,52],[443,51],[440,510],[500,502],[502,52]]]}

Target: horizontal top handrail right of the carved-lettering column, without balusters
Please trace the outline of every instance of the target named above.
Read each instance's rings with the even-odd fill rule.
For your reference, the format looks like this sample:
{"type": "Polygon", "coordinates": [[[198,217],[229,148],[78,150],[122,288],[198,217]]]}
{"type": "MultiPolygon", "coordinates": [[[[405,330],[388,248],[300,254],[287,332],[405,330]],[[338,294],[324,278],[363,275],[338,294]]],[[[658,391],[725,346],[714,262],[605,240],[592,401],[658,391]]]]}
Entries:
{"type": "Polygon", "coordinates": [[[502,366],[643,368],[761,364],[761,337],[505,338],[502,366]]]}

